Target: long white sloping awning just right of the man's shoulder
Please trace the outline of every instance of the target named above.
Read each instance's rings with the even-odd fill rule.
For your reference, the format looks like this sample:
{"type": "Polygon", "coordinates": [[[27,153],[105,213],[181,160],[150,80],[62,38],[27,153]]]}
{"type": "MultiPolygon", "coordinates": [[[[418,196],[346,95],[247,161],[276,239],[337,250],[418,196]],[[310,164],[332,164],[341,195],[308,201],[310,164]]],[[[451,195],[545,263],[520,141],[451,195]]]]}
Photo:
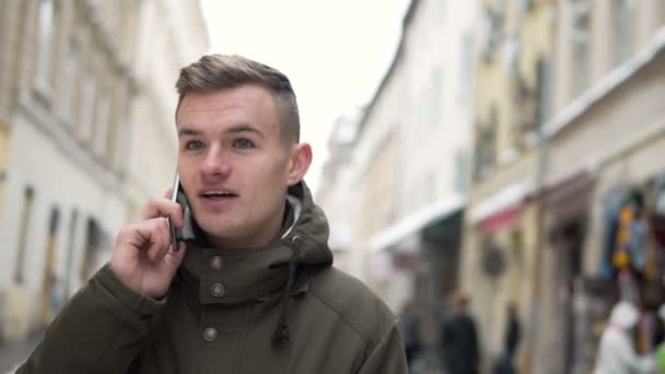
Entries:
{"type": "Polygon", "coordinates": [[[416,211],[387,227],[370,241],[370,250],[380,252],[397,244],[407,236],[427,227],[434,221],[445,219],[459,211],[466,204],[466,199],[459,195],[435,201],[434,203],[416,211]]]}

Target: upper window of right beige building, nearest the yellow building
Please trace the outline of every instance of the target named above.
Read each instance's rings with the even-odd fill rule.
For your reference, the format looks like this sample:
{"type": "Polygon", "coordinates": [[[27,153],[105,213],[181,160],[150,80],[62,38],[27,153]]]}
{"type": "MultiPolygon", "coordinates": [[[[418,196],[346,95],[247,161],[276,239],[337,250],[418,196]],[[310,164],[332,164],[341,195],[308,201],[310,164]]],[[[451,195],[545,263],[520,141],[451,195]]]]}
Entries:
{"type": "Polygon", "coordinates": [[[590,84],[591,72],[591,16],[586,2],[573,4],[571,38],[573,45],[573,67],[575,94],[582,93],[590,84]]]}

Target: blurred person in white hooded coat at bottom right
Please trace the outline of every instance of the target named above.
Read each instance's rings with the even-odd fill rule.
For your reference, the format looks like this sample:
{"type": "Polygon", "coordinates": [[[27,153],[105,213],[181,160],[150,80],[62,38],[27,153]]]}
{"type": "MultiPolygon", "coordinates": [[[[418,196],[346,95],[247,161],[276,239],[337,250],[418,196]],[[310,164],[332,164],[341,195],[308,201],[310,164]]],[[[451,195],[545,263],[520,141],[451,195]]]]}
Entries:
{"type": "Polygon", "coordinates": [[[611,311],[609,326],[603,331],[594,374],[655,373],[652,355],[640,357],[632,336],[640,312],[629,302],[620,301],[611,311]]]}

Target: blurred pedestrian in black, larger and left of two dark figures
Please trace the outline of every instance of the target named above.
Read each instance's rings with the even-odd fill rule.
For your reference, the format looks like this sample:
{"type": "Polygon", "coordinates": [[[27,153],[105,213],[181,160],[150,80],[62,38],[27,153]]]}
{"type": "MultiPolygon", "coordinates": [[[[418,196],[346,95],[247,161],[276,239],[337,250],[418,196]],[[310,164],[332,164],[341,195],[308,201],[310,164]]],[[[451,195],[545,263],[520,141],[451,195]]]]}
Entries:
{"type": "Polygon", "coordinates": [[[453,313],[441,325],[441,358],[448,374],[475,374],[479,371],[478,331],[468,307],[469,299],[456,294],[453,299],[453,313]]]}

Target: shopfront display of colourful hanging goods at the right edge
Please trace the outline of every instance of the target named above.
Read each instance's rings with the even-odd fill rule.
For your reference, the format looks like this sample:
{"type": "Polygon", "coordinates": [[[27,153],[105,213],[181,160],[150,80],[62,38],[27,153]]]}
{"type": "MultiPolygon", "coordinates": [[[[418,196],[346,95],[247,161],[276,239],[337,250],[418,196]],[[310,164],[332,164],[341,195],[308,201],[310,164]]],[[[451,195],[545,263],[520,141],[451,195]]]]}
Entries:
{"type": "Polygon", "coordinates": [[[665,304],[665,174],[608,192],[603,212],[598,274],[611,281],[617,300],[640,306],[638,349],[652,351],[663,340],[657,311],[665,304]]]}

